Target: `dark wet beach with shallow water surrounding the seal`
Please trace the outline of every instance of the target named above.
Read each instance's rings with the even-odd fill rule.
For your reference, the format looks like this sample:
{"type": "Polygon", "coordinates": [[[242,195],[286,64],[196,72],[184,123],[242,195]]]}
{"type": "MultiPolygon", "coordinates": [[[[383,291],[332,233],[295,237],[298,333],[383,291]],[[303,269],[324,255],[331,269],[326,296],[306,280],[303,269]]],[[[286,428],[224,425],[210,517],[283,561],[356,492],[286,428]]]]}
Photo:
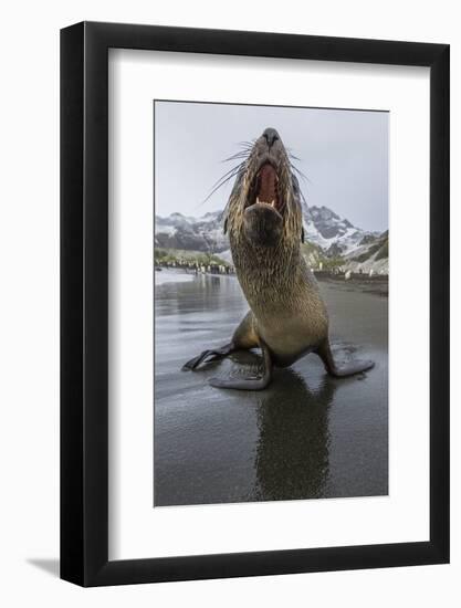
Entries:
{"type": "Polygon", "coordinates": [[[229,342],[248,311],[237,279],[174,279],[156,273],[155,505],[387,494],[387,298],[319,284],[336,356],[373,358],[365,376],[329,378],[310,355],[264,391],[233,391],[207,379],[254,368],[256,355],[181,366],[229,342]]]}

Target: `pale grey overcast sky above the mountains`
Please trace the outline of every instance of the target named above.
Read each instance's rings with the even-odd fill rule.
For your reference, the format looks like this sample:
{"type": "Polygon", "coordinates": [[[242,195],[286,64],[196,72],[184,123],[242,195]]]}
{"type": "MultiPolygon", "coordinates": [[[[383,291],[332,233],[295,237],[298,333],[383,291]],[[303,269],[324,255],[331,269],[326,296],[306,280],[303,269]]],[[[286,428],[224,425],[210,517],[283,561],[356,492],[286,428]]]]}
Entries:
{"type": "Polygon", "coordinates": [[[231,184],[203,202],[235,161],[239,143],[277,129],[308,177],[311,206],[366,230],[388,228],[388,113],[155,102],[156,213],[199,217],[223,209],[231,184]]]}

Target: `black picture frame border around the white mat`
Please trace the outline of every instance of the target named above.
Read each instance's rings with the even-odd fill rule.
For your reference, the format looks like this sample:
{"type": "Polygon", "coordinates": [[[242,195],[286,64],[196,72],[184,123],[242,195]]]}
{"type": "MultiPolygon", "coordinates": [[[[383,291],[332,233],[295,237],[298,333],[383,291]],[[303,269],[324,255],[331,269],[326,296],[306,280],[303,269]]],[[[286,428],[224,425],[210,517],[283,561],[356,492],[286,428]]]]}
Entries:
{"type": "MultiPolygon", "coordinates": [[[[82,22],[61,31],[61,578],[82,586],[449,562],[449,45],[82,22]],[[108,49],[430,67],[430,539],[108,560],[108,49]]],[[[408,381],[417,381],[409,378],[408,381]]]]}

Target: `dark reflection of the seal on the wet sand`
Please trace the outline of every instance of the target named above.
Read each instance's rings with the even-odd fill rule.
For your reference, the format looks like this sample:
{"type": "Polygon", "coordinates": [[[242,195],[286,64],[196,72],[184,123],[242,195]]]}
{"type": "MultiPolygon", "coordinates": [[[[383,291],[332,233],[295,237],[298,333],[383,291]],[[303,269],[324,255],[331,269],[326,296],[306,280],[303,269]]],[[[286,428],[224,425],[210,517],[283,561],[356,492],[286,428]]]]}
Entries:
{"type": "Polygon", "coordinates": [[[329,407],[335,381],[324,377],[315,389],[292,369],[258,406],[254,500],[318,499],[328,480],[329,407]]]}

